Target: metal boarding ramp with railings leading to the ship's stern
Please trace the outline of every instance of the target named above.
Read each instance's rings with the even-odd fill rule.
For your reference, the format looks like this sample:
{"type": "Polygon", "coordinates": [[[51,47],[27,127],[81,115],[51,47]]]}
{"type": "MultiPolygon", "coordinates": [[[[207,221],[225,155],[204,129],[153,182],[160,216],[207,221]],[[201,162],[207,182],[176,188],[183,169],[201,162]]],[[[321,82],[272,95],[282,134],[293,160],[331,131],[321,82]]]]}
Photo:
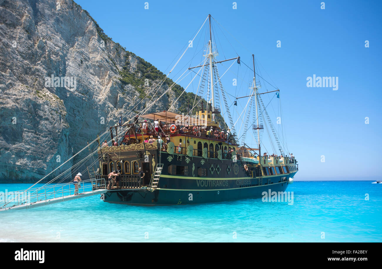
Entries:
{"type": "Polygon", "coordinates": [[[0,193],[0,211],[29,209],[42,205],[79,199],[105,193],[105,178],[88,179],[80,182],[78,195],[74,195],[74,183],[47,184],[43,187],[0,193]]]}

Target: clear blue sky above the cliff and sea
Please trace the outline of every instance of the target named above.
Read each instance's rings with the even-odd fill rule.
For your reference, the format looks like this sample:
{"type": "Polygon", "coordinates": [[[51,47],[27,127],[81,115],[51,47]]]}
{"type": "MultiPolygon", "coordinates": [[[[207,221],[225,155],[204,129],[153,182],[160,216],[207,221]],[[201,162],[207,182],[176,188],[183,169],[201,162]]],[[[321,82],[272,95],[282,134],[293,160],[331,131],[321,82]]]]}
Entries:
{"type": "MultiPolygon", "coordinates": [[[[164,73],[210,13],[244,45],[230,40],[241,59],[251,64],[255,54],[264,78],[280,89],[288,148],[299,161],[296,180],[380,179],[382,3],[324,1],[322,10],[321,2],[238,0],[235,10],[233,1],[76,1],[113,41],[164,73]],[[313,74],[338,77],[338,90],[308,88],[313,74]]],[[[236,57],[219,39],[220,56],[236,57]]],[[[233,95],[237,68],[226,77],[233,95]]]]}

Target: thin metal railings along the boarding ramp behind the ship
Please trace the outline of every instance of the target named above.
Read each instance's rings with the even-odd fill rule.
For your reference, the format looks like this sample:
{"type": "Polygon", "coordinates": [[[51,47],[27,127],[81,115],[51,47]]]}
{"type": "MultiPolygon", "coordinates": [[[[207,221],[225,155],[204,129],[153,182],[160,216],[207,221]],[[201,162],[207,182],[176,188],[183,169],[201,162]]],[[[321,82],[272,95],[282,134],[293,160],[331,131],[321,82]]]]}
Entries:
{"type": "Polygon", "coordinates": [[[34,203],[39,201],[47,202],[50,199],[62,198],[74,195],[77,193],[89,193],[98,189],[105,189],[105,180],[87,179],[80,181],[78,191],[75,189],[74,182],[62,184],[47,184],[44,187],[36,187],[26,190],[18,190],[12,192],[0,192],[0,209],[13,207],[15,205],[22,205],[25,203],[34,203]]]}

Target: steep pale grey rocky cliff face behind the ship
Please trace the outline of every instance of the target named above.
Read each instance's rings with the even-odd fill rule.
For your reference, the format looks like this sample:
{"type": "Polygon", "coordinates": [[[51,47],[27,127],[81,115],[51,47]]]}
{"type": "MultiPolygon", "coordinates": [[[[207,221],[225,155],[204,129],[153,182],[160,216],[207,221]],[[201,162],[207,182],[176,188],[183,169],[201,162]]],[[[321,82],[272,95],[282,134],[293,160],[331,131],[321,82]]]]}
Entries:
{"type": "MultiPolygon", "coordinates": [[[[0,39],[0,182],[35,182],[57,168],[133,108],[162,74],[113,42],[72,0],[0,0],[0,39]]],[[[179,90],[150,112],[167,109],[179,90]]]]}

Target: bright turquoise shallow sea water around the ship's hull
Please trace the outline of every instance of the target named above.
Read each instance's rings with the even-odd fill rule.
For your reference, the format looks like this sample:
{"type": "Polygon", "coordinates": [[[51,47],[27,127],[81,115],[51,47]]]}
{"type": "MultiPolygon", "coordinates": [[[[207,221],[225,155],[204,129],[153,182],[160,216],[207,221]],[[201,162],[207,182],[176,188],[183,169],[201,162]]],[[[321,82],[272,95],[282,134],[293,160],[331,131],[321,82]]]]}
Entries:
{"type": "MultiPolygon", "coordinates": [[[[293,205],[245,199],[139,207],[84,197],[0,212],[0,242],[381,242],[382,184],[371,182],[295,181],[287,189],[293,205]]],[[[0,191],[29,186],[0,184],[0,191]]]]}

